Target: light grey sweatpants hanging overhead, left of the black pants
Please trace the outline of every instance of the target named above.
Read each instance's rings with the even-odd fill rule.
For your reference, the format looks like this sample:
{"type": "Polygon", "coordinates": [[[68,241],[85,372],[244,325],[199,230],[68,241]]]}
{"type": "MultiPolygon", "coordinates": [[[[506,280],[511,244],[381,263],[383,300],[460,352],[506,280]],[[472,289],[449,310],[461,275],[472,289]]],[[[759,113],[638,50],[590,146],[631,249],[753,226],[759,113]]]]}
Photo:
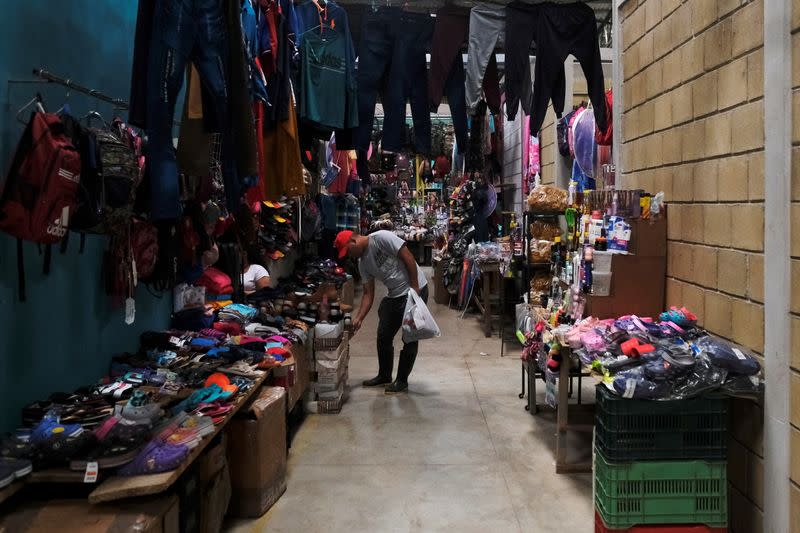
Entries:
{"type": "MultiPolygon", "coordinates": [[[[481,99],[481,85],[489,64],[494,63],[495,47],[504,46],[505,30],[505,10],[502,7],[477,5],[470,11],[465,83],[470,112],[475,110],[481,99]]],[[[497,112],[500,109],[499,87],[496,95],[486,92],[485,96],[489,109],[497,112]]]]}

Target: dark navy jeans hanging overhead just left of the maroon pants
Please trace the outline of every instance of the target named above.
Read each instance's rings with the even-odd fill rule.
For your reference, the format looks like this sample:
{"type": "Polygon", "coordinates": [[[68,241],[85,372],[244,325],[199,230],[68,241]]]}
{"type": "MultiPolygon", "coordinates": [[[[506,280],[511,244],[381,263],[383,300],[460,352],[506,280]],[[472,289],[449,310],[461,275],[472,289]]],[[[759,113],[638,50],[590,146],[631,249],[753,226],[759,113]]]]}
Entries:
{"type": "Polygon", "coordinates": [[[431,114],[428,109],[428,65],[426,52],[433,36],[433,18],[421,13],[400,13],[394,26],[394,53],[383,109],[383,147],[399,152],[403,145],[406,101],[414,120],[414,150],[431,151],[431,114]]]}

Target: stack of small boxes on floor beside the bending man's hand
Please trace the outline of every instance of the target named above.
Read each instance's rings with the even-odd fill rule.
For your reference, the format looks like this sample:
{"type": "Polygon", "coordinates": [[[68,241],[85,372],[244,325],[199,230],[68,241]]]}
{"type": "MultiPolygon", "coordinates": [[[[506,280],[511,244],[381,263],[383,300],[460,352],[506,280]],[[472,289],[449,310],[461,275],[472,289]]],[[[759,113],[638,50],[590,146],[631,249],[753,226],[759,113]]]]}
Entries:
{"type": "Polygon", "coordinates": [[[315,331],[314,398],[317,413],[338,413],[347,400],[350,337],[340,322],[335,328],[318,324],[315,331]],[[329,331],[328,331],[329,330],[329,331]],[[320,337],[319,335],[323,335],[320,337]]]}

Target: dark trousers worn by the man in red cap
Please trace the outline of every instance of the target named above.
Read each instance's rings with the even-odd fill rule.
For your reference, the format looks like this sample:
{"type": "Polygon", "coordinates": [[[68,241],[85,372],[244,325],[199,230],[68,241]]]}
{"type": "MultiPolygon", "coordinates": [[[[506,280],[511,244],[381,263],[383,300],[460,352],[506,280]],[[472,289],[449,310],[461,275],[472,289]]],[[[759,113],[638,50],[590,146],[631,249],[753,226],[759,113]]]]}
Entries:
{"type": "MultiPolygon", "coordinates": [[[[428,303],[428,286],[419,291],[425,303],[428,303]]],[[[381,300],[378,307],[378,375],[391,380],[394,370],[394,336],[403,325],[403,314],[406,310],[408,296],[381,300]]],[[[408,382],[408,376],[417,360],[419,342],[403,343],[400,350],[400,362],[397,365],[397,381],[408,382]]]]}

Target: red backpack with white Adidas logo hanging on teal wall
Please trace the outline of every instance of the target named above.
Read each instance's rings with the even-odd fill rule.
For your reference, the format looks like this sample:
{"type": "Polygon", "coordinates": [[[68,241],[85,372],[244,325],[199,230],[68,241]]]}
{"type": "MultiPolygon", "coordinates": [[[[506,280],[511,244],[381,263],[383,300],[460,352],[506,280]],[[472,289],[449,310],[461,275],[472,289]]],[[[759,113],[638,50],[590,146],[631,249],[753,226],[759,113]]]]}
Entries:
{"type": "MultiPolygon", "coordinates": [[[[81,158],[53,113],[34,113],[22,134],[0,196],[0,230],[17,237],[20,300],[25,300],[22,241],[53,244],[75,209],[81,158]]],[[[49,248],[45,256],[48,270],[49,248]]]]}

